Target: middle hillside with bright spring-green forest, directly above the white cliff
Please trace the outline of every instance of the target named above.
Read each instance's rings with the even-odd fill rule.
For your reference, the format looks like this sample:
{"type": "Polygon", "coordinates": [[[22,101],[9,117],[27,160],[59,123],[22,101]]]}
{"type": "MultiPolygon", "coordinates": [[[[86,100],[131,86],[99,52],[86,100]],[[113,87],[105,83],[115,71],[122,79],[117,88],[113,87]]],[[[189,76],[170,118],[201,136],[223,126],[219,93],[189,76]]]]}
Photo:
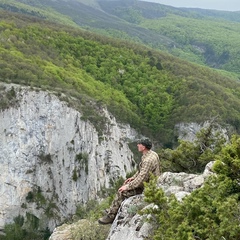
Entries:
{"type": "Polygon", "coordinates": [[[239,130],[234,79],[128,41],[4,11],[0,18],[1,81],[74,96],[81,104],[70,104],[98,126],[94,108],[105,104],[117,119],[164,144],[172,143],[180,122],[220,116],[239,130]]]}

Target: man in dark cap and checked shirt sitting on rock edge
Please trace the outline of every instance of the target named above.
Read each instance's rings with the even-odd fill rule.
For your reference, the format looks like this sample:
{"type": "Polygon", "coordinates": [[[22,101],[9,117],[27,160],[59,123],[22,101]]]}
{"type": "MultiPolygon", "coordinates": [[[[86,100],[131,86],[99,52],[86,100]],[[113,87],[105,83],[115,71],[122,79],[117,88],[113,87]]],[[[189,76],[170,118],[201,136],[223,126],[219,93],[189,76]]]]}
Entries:
{"type": "Polygon", "coordinates": [[[131,178],[128,178],[118,189],[118,193],[112,202],[106,215],[98,220],[100,224],[112,223],[117,215],[121,203],[131,196],[143,192],[143,183],[150,180],[150,176],[160,175],[160,161],[158,154],[151,150],[152,143],[149,139],[144,139],[137,144],[138,151],[142,153],[139,170],[131,178]]]}

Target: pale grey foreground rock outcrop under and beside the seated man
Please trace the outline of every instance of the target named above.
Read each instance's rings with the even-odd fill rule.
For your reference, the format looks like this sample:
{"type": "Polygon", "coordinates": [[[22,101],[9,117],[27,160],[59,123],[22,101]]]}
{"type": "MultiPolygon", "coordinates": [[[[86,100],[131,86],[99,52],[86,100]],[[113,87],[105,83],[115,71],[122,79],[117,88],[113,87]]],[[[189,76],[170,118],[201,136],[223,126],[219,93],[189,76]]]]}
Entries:
{"type": "MultiPolygon", "coordinates": [[[[174,194],[181,201],[185,196],[200,188],[205,179],[213,172],[213,162],[210,162],[202,174],[165,172],[158,179],[158,187],[162,188],[166,196],[174,194]]],[[[149,236],[152,226],[145,221],[149,216],[139,215],[137,212],[146,207],[154,207],[144,203],[144,195],[136,195],[126,199],[120,207],[118,214],[111,225],[106,240],[144,240],[149,236]],[[144,220],[145,219],[145,220],[144,220]]],[[[81,220],[82,221],[82,220],[81,220]]],[[[54,230],[50,240],[76,240],[75,235],[70,236],[69,229],[78,227],[80,222],[64,225],[54,230]],[[62,238],[64,235],[65,238],[62,238]],[[66,238],[68,237],[68,238],[66,238]]]]}

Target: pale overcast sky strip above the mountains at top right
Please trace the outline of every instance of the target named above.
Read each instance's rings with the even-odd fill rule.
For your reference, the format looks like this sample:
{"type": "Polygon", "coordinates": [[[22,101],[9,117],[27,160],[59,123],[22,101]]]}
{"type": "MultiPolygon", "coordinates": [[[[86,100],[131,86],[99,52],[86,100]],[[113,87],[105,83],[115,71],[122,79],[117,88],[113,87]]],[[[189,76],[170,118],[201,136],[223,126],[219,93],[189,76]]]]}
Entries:
{"type": "Polygon", "coordinates": [[[240,0],[143,0],[174,7],[240,11],[240,0]]]}

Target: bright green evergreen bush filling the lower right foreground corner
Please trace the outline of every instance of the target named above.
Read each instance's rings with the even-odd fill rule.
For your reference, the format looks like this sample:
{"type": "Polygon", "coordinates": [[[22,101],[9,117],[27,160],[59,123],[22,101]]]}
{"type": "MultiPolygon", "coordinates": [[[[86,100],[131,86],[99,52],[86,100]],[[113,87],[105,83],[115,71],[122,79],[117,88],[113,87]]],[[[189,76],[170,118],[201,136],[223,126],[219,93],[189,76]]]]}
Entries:
{"type": "Polygon", "coordinates": [[[182,202],[175,196],[167,198],[156,179],[146,184],[145,200],[157,206],[147,210],[155,216],[151,239],[240,239],[240,137],[234,136],[214,159],[216,175],[182,202]]]}

